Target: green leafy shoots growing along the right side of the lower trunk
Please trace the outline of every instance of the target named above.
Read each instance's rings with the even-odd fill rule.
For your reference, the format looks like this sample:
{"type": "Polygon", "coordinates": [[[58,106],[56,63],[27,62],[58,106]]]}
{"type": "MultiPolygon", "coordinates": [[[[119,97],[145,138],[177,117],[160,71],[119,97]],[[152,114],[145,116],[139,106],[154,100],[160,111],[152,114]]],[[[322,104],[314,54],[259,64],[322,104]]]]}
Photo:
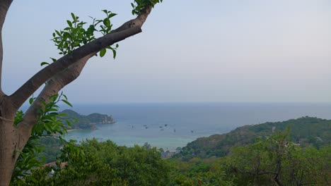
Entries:
{"type": "MultiPolygon", "coordinates": [[[[34,98],[30,99],[30,104],[33,103],[34,98]]],[[[59,102],[71,105],[64,94],[55,94],[50,97],[50,102],[42,102],[43,109],[39,109],[37,123],[33,127],[31,136],[25,144],[25,147],[20,151],[20,156],[16,161],[16,166],[13,170],[11,184],[16,185],[21,182],[21,178],[25,178],[31,169],[42,166],[45,163],[45,157],[38,156],[43,150],[43,147],[38,144],[38,140],[42,137],[57,137],[62,142],[62,136],[66,133],[64,123],[59,118],[66,116],[64,113],[59,113],[59,102]],[[58,136],[55,136],[58,135],[58,136]]],[[[14,125],[16,126],[23,120],[23,111],[18,111],[15,117],[14,125]]],[[[70,126],[70,123],[69,123],[70,126]]],[[[71,144],[69,142],[66,142],[71,144]]],[[[71,144],[73,145],[73,144],[71,144]]]]}

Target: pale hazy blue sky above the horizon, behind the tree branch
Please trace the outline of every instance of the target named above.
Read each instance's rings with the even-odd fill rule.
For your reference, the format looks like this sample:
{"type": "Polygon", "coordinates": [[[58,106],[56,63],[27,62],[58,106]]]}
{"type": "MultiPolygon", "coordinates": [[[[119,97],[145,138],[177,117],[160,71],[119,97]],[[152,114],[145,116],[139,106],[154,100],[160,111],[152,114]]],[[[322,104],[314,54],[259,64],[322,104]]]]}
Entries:
{"type": "MultiPolygon", "coordinates": [[[[132,17],[129,0],[14,1],[4,25],[11,94],[59,58],[52,39],[70,13],[132,17]]],[[[331,101],[330,0],[164,0],[143,32],[89,61],[64,89],[73,103],[331,101]]]]}

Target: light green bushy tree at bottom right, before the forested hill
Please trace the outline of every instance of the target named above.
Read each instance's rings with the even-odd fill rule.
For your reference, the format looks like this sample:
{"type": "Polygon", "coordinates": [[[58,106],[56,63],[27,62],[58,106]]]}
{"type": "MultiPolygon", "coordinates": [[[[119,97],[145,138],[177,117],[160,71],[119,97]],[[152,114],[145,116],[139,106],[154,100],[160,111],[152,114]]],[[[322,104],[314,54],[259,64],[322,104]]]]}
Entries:
{"type": "Polygon", "coordinates": [[[289,132],[276,132],[267,140],[234,147],[227,157],[227,173],[237,185],[328,185],[330,151],[314,147],[301,149],[289,142],[289,132]]]}

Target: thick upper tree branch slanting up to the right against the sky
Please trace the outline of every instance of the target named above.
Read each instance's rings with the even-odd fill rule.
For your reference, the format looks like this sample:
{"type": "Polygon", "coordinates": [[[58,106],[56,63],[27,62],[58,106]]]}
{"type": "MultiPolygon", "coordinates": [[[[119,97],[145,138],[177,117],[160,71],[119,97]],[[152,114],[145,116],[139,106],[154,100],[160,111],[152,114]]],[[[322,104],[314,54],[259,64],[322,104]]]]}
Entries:
{"type": "Polygon", "coordinates": [[[129,20],[127,23],[124,23],[121,27],[114,30],[114,32],[104,35],[103,37],[99,37],[98,39],[75,49],[71,54],[66,54],[62,58],[59,58],[59,60],[50,64],[50,66],[40,70],[38,73],[33,75],[30,80],[25,82],[24,85],[17,89],[16,92],[11,94],[10,99],[13,106],[16,109],[19,109],[22,104],[33,94],[33,92],[35,92],[44,82],[57,73],[62,72],[62,70],[65,70],[76,61],[79,61],[79,59],[88,56],[89,54],[94,54],[95,52],[104,49],[106,46],[110,46],[141,32],[141,26],[144,24],[150,12],[151,7],[146,8],[145,13],[142,13],[134,20],[129,20]]]}

